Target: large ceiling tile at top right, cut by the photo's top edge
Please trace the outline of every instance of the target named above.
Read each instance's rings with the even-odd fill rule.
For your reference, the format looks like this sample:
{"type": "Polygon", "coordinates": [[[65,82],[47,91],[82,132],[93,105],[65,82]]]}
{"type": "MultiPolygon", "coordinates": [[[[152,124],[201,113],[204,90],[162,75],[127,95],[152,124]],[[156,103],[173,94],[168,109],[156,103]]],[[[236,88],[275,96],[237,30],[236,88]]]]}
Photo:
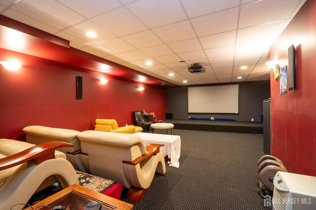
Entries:
{"type": "Polygon", "coordinates": [[[300,0],[261,0],[241,6],[239,28],[290,18],[300,0]]]}

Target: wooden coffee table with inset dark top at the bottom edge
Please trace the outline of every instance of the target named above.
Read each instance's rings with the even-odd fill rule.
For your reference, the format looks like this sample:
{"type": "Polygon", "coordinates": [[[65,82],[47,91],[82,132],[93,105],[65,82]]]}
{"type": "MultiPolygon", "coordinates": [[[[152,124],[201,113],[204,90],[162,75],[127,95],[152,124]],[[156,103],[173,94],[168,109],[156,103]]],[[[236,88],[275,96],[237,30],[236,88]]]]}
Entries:
{"type": "MultiPolygon", "coordinates": [[[[90,202],[100,202],[102,203],[101,210],[132,210],[133,205],[120,201],[118,199],[112,198],[107,195],[103,195],[101,193],[95,192],[93,190],[82,187],[78,184],[73,184],[52,196],[36,203],[32,207],[37,210],[51,210],[55,206],[71,206],[76,205],[74,207],[68,207],[67,210],[84,210],[85,206],[90,202]],[[80,206],[82,205],[82,206],[80,206]],[[43,206],[43,207],[41,207],[43,206]],[[49,206],[44,207],[44,206],[49,206]]],[[[32,210],[31,207],[25,210],[32,210]]]]}

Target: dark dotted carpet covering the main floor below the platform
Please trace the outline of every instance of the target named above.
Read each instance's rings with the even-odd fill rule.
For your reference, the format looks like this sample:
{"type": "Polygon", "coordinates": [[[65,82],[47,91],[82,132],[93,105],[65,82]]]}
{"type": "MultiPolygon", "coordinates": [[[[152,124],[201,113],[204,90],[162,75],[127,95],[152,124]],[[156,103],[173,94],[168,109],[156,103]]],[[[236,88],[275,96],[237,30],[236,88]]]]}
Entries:
{"type": "Polygon", "coordinates": [[[178,130],[180,167],[166,164],[135,210],[271,210],[260,196],[257,160],[263,135],[178,130]]]}

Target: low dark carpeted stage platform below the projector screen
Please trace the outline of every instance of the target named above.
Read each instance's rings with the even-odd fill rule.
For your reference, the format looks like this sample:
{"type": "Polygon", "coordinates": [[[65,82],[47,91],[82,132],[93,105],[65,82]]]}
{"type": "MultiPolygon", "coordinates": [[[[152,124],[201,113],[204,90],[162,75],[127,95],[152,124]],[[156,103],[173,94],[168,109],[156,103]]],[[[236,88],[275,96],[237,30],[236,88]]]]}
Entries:
{"type": "Polygon", "coordinates": [[[263,134],[263,122],[217,120],[163,120],[163,122],[174,124],[174,129],[263,134]]]}

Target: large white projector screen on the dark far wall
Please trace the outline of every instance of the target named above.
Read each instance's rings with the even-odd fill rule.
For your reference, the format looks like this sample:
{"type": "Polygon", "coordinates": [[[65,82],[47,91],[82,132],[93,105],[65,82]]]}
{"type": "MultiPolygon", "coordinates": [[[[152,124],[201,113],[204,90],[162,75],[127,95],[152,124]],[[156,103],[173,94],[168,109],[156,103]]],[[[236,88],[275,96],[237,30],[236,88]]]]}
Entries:
{"type": "Polygon", "coordinates": [[[239,85],[188,88],[189,113],[238,113],[239,85]]]}

